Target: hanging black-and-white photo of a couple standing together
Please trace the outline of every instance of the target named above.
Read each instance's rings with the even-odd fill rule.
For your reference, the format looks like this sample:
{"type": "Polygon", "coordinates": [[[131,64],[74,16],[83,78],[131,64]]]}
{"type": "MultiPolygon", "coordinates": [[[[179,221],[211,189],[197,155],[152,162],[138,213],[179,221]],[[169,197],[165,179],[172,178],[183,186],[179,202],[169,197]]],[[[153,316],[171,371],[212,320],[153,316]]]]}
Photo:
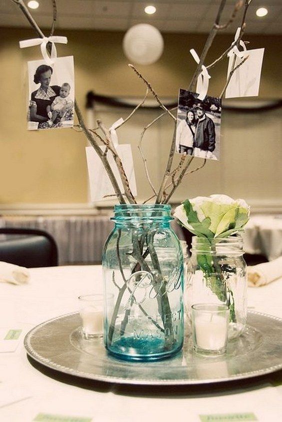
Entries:
{"type": "Polygon", "coordinates": [[[221,100],[180,89],[175,152],[219,160],[221,100]]]}

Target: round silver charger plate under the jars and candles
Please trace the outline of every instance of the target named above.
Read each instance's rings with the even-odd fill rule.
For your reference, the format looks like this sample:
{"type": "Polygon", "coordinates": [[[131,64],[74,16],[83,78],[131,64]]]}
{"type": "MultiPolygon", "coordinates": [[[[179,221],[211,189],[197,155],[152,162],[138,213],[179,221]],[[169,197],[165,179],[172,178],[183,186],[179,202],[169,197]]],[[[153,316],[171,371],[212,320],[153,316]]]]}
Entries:
{"type": "Polygon", "coordinates": [[[229,341],[227,353],[202,357],[190,336],[170,359],[127,362],[107,354],[102,338],[85,340],[78,313],[45,321],[25,336],[24,346],[37,362],[83,378],[126,384],[187,385],[250,378],[282,368],[282,319],[249,312],[242,335],[229,341]]]}

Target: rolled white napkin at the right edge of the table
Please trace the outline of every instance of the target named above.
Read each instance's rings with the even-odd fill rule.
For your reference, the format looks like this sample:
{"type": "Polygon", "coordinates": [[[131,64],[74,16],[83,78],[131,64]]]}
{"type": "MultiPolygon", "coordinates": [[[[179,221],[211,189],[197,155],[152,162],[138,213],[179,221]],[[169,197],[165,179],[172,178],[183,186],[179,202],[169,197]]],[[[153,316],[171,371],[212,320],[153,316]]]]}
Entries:
{"type": "Polygon", "coordinates": [[[282,256],[273,261],[247,267],[248,286],[258,287],[282,277],[282,256]]]}

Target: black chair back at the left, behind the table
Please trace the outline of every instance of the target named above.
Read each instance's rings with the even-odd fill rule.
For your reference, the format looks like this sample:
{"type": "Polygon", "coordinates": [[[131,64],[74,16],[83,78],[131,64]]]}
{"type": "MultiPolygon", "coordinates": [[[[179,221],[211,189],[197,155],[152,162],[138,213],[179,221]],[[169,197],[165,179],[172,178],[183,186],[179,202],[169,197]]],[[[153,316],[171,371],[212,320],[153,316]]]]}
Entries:
{"type": "Polygon", "coordinates": [[[26,268],[58,265],[57,246],[49,233],[43,230],[0,228],[0,261],[26,268]],[[0,236],[1,237],[1,236],[0,236]]]}

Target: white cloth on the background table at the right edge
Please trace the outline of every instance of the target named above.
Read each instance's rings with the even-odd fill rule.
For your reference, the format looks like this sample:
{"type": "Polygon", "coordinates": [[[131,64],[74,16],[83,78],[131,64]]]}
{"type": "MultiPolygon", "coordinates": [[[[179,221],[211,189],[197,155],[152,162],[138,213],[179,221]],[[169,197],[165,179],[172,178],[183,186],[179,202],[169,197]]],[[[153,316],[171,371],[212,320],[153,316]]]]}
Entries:
{"type": "Polygon", "coordinates": [[[253,216],[242,236],[245,252],[263,254],[269,261],[282,256],[282,216],[253,216]]]}

